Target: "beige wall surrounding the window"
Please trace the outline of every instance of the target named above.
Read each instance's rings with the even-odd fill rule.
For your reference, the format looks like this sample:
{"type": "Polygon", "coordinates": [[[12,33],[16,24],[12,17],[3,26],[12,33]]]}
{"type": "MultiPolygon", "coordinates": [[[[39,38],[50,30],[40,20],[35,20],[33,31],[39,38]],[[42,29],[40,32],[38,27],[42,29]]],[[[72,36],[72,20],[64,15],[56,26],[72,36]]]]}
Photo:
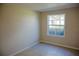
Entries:
{"type": "Polygon", "coordinates": [[[65,46],[79,48],[79,8],[69,8],[41,13],[41,42],[51,42],[65,46]],[[66,14],[65,18],[65,36],[54,37],[47,36],[47,15],[66,14]]]}

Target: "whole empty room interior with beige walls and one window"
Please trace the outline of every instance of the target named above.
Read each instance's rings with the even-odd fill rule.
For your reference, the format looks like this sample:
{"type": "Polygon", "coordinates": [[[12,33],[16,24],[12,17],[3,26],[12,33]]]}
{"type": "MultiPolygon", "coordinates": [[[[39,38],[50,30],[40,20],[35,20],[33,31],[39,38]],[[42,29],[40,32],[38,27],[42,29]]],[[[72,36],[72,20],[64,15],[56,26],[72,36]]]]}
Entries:
{"type": "Polygon", "coordinates": [[[79,56],[79,4],[0,3],[0,56],[79,56]]]}

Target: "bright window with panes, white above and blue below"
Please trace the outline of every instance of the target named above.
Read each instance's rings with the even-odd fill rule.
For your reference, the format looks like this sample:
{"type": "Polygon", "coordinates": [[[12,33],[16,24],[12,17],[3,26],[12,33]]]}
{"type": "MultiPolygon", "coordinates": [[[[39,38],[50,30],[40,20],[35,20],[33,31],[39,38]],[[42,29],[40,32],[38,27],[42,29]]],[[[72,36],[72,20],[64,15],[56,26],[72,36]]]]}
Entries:
{"type": "Polygon", "coordinates": [[[64,36],[65,14],[48,15],[47,32],[52,36],[64,36]]]}

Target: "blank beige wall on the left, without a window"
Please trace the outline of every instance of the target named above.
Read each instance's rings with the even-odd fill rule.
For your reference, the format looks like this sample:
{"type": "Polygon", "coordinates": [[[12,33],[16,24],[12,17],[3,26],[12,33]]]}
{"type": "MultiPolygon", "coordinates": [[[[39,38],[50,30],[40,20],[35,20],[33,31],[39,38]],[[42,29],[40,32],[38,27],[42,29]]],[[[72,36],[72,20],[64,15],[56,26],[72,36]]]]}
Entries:
{"type": "Polygon", "coordinates": [[[38,13],[15,4],[2,5],[2,55],[11,55],[39,39],[38,13]]]}

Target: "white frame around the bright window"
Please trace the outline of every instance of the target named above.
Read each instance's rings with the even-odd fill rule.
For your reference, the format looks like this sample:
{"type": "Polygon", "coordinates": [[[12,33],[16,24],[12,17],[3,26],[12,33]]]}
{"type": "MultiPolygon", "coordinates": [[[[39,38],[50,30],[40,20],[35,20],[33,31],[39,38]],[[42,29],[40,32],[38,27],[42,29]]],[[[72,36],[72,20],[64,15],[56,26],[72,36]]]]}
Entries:
{"type": "Polygon", "coordinates": [[[52,37],[65,37],[65,19],[66,19],[66,14],[65,13],[62,13],[62,14],[50,14],[50,15],[47,15],[47,36],[52,36],[52,37]],[[61,36],[61,35],[51,35],[49,34],[49,24],[48,24],[48,21],[49,21],[49,16],[51,15],[64,15],[64,35],[61,36]]]}

